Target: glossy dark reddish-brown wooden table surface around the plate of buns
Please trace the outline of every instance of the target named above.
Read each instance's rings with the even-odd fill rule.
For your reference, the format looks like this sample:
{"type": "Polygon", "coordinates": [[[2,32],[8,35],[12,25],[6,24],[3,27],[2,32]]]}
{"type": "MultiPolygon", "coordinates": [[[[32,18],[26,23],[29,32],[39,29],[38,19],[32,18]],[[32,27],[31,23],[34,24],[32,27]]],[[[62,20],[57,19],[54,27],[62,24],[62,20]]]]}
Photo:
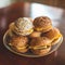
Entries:
{"type": "Polygon", "coordinates": [[[0,9],[0,65],[65,65],[65,10],[39,3],[18,2],[0,9]],[[43,57],[24,57],[10,52],[3,46],[3,35],[9,24],[18,17],[47,15],[52,18],[53,26],[60,28],[64,41],[57,51],[43,57]]]}

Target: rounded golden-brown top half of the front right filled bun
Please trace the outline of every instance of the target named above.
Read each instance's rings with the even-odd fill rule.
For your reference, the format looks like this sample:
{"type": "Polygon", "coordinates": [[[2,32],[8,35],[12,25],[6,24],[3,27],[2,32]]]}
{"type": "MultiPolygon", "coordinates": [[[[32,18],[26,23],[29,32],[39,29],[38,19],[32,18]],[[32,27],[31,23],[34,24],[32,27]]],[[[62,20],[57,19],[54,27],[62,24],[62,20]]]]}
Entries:
{"type": "Polygon", "coordinates": [[[50,46],[51,40],[47,37],[38,37],[30,41],[30,47],[50,46]]]}

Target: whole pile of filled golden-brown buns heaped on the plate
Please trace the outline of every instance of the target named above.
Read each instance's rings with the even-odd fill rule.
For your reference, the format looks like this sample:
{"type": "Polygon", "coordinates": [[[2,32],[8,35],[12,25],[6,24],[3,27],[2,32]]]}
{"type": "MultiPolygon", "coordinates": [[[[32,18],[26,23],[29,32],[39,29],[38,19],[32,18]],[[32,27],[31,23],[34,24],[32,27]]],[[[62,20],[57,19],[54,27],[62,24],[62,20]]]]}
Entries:
{"type": "Polygon", "coordinates": [[[60,30],[52,26],[52,21],[47,16],[35,20],[20,17],[10,24],[9,29],[11,37],[9,46],[21,53],[30,50],[30,53],[44,55],[62,38],[60,30]]]}

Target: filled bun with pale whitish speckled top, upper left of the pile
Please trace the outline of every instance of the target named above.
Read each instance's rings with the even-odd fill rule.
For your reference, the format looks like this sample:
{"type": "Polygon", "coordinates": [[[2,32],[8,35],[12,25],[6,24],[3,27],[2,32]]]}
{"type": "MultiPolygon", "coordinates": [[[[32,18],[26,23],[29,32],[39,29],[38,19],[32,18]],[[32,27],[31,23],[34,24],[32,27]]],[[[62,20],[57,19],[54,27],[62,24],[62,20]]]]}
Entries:
{"type": "Polygon", "coordinates": [[[20,36],[30,35],[34,31],[32,27],[32,22],[27,17],[20,17],[15,23],[10,25],[12,31],[20,36]]]}

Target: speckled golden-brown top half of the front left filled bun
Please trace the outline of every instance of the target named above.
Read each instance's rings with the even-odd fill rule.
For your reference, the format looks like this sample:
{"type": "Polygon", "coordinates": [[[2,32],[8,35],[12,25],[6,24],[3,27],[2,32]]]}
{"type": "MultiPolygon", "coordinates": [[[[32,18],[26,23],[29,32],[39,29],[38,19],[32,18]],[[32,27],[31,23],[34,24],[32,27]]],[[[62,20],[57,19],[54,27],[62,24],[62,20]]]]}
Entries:
{"type": "Polygon", "coordinates": [[[10,43],[12,43],[12,46],[16,46],[16,47],[23,47],[23,46],[26,46],[28,42],[28,39],[27,37],[18,37],[18,36],[15,36],[11,39],[10,43]]]}

